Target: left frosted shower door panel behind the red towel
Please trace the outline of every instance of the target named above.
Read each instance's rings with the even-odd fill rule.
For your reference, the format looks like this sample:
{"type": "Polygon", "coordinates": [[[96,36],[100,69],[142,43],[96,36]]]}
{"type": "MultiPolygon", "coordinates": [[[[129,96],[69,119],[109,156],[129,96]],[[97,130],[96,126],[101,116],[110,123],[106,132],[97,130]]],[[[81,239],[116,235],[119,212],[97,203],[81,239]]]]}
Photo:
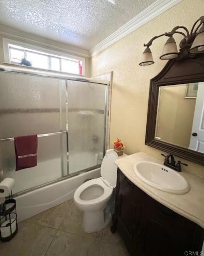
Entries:
{"type": "Polygon", "coordinates": [[[65,80],[0,72],[0,172],[13,193],[67,175],[65,80]],[[13,137],[37,134],[37,166],[15,171],[13,137]]]}

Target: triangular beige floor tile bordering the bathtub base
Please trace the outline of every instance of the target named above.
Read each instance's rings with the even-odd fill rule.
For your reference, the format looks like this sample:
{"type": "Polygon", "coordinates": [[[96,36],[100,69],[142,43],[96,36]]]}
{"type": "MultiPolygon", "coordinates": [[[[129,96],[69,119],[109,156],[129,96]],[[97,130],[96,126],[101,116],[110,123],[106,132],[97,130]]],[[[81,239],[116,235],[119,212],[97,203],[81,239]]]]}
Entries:
{"type": "Polygon", "coordinates": [[[39,213],[27,219],[26,221],[58,229],[72,202],[73,200],[71,199],[61,205],[55,206],[45,212],[39,213]]]}

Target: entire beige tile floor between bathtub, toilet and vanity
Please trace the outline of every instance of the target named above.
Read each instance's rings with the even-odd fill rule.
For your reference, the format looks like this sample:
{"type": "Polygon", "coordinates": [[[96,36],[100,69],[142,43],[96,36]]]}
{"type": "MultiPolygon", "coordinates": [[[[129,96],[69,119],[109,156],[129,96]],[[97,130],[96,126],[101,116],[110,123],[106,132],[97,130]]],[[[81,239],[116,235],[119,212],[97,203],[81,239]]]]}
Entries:
{"type": "Polygon", "coordinates": [[[82,229],[83,213],[73,200],[18,224],[10,242],[0,242],[1,256],[129,256],[110,225],[95,233],[82,229]]]}

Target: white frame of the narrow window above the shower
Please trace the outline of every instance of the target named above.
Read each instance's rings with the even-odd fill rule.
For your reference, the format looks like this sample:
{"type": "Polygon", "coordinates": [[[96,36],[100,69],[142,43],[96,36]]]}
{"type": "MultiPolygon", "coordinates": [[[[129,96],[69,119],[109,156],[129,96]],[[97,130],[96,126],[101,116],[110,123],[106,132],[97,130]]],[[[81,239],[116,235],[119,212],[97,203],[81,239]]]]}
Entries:
{"type": "MultiPolygon", "coordinates": [[[[42,51],[42,52],[45,52],[47,54],[57,55],[57,56],[62,57],[62,58],[64,57],[64,58],[69,58],[69,59],[73,59],[73,60],[79,60],[82,63],[82,74],[81,75],[83,75],[83,76],[85,75],[85,58],[78,57],[76,55],[70,55],[70,54],[62,53],[62,52],[55,51],[55,50],[50,50],[50,49],[47,49],[47,48],[43,48],[43,47],[36,46],[36,45],[33,45],[33,44],[12,40],[12,39],[9,39],[9,38],[3,38],[4,63],[6,63],[6,64],[12,64],[12,62],[10,61],[9,44],[18,45],[18,46],[28,48],[28,49],[31,49],[31,50],[42,51]]],[[[14,64],[14,65],[19,65],[19,64],[14,64]]],[[[19,65],[19,66],[22,66],[22,65],[19,65]]],[[[25,66],[23,66],[23,67],[25,67],[25,66]]],[[[35,68],[35,67],[30,67],[30,68],[41,69],[41,68],[35,68]]],[[[41,69],[41,70],[52,71],[50,69],[41,69]]],[[[61,73],[62,71],[53,70],[53,72],[60,72],[61,73]]],[[[62,72],[62,73],[65,73],[65,72],[62,72]]],[[[75,74],[75,73],[69,73],[69,74],[75,74]]],[[[75,75],[80,75],[80,74],[75,74],[75,75]]]]}

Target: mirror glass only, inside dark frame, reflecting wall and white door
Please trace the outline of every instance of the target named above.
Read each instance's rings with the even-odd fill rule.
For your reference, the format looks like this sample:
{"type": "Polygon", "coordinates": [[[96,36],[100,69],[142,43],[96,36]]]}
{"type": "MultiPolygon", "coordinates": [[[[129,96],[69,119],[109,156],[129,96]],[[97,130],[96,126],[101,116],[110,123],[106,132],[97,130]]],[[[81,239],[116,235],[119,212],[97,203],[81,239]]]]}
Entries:
{"type": "Polygon", "coordinates": [[[204,82],[159,87],[155,139],[204,153],[204,82]]]}

